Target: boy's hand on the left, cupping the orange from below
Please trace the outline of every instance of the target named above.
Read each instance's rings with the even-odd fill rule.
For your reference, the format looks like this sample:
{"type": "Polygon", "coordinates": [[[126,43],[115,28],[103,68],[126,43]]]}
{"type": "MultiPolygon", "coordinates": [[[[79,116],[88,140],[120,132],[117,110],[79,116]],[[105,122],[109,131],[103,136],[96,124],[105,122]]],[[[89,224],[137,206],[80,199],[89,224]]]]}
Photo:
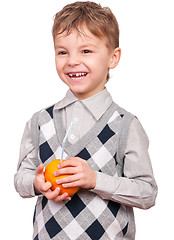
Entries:
{"type": "Polygon", "coordinates": [[[45,182],[45,176],[44,176],[44,164],[40,164],[35,173],[35,179],[34,179],[34,189],[36,195],[43,194],[48,200],[52,200],[54,202],[59,202],[62,200],[71,200],[71,198],[68,196],[68,193],[64,193],[62,195],[59,195],[60,188],[56,188],[54,191],[52,191],[51,183],[45,182]]]}

